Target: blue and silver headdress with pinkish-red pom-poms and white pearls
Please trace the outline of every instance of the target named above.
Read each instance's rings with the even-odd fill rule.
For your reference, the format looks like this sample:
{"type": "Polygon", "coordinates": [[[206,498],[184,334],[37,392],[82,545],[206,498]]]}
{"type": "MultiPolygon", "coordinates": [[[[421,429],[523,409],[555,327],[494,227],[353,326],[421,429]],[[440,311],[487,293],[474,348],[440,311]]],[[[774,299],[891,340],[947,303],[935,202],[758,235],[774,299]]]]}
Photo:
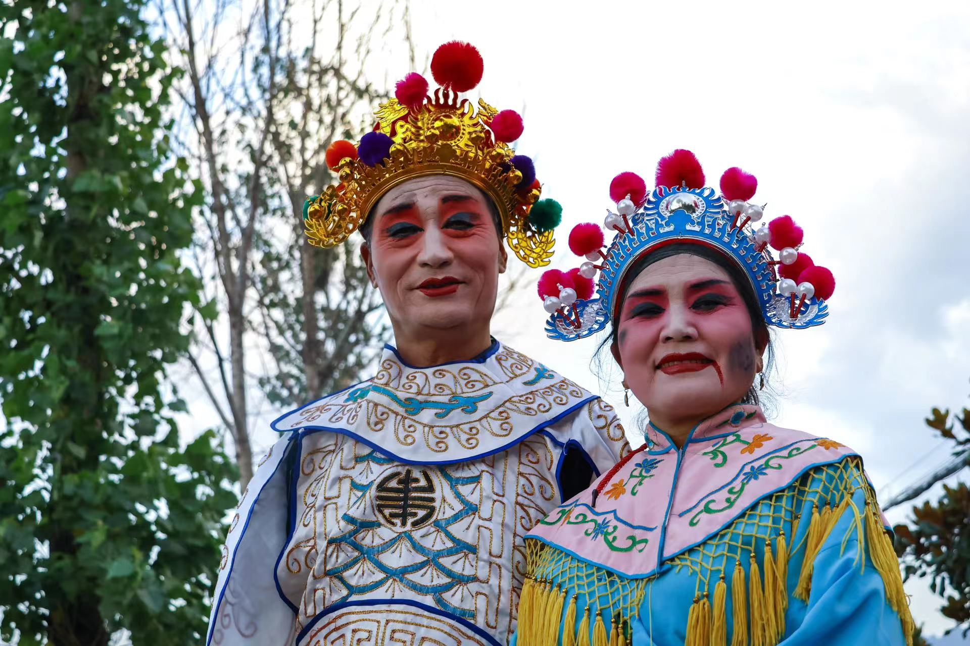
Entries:
{"type": "Polygon", "coordinates": [[[795,328],[824,323],[825,300],[835,280],[800,251],[803,233],[791,217],[754,229],[764,214],[763,206],[749,202],[757,187],[754,175],[727,169],[718,195],[704,186],[703,171],[688,150],[676,150],[661,160],[657,188],[649,195],[638,175],[617,175],[610,184],[617,212],[608,211],[604,223],[607,231],[615,231],[609,247],[603,249],[597,224],[577,225],[569,234],[569,248],[586,261],[568,272],[550,269],[539,279],[539,296],[550,315],[546,334],[574,341],[605,328],[618,314],[630,266],[676,243],[717,250],[743,269],[765,323],[795,328]],[[769,247],[779,252],[778,260],[769,247]]]}

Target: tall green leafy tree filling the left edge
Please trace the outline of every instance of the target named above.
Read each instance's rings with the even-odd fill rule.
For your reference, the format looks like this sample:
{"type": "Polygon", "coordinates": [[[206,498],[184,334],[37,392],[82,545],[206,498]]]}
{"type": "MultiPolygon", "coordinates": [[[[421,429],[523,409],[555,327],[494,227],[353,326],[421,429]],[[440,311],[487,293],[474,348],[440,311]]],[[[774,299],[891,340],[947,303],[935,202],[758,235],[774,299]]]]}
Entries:
{"type": "Polygon", "coordinates": [[[0,642],[200,643],[236,501],[173,418],[196,192],[144,4],[0,3],[0,642]]]}

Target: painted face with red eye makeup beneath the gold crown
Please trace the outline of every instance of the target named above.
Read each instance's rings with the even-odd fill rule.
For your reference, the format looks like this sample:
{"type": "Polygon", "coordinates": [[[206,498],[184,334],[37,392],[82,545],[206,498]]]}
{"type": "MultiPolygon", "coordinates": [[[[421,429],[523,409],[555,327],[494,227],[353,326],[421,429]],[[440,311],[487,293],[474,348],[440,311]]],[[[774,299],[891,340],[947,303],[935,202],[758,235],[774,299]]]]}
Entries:
{"type": "Polygon", "coordinates": [[[447,175],[410,179],[371,214],[361,247],[396,333],[488,322],[506,255],[484,195],[447,175]]]}

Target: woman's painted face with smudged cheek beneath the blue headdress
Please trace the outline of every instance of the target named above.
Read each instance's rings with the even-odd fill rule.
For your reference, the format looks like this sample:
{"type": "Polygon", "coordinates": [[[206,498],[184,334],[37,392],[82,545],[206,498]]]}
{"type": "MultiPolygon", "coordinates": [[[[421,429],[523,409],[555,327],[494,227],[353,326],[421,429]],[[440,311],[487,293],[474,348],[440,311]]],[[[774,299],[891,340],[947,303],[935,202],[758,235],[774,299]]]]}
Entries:
{"type": "Polygon", "coordinates": [[[740,401],[760,370],[751,317],[727,271],[680,254],[654,262],[621,304],[613,355],[652,418],[700,420],[740,401]]]}

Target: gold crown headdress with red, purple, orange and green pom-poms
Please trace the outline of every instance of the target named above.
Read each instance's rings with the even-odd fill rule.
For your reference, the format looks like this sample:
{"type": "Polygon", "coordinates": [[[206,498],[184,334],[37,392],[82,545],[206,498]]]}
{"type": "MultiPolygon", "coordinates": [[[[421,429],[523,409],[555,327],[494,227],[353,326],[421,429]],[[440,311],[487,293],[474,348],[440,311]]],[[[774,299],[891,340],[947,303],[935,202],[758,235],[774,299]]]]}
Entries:
{"type": "Polygon", "coordinates": [[[412,72],[398,82],[395,98],[374,113],[373,131],[357,146],[340,140],[327,149],[327,166],[337,171],[339,184],[304,205],[309,243],[340,244],[388,190],[414,177],[443,174],[469,181],[495,202],[508,246],[521,261],[549,264],[562,207],[539,200],[532,160],[508,146],[522,135],[522,117],[480,99],[475,110],[468,99],[459,99],[459,92],[482,77],[481,54],[473,46],[438,47],[431,70],[440,85],[433,95],[428,81],[412,72]]]}

